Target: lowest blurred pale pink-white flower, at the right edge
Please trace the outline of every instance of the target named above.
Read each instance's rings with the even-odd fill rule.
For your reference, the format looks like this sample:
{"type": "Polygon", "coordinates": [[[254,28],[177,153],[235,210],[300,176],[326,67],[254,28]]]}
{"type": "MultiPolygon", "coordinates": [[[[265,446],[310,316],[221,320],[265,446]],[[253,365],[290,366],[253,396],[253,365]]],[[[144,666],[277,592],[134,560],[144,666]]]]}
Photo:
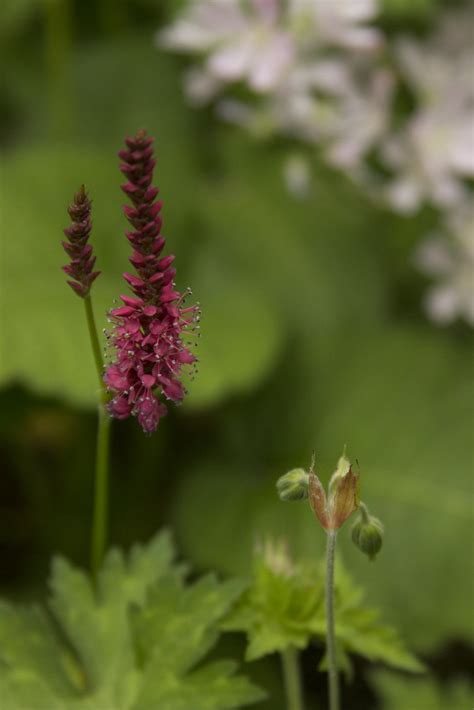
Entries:
{"type": "Polygon", "coordinates": [[[439,324],[464,318],[474,326],[474,204],[461,205],[446,218],[446,235],[435,235],[415,254],[419,268],[437,279],[425,305],[439,324]]]}

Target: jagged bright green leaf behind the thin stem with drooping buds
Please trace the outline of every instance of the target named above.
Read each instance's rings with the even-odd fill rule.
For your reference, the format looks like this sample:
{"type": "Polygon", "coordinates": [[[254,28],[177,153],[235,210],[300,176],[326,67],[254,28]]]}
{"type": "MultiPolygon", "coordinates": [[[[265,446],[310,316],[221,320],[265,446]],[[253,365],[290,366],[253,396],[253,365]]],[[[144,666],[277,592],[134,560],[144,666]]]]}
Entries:
{"type": "MultiPolygon", "coordinates": [[[[341,656],[357,653],[370,661],[418,672],[421,663],[403,646],[396,631],[361,603],[362,593],[343,569],[335,588],[336,639],[341,656]]],[[[324,641],[324,570],[292,563],[284,548],[268,544],[256,555],[252,584],[224,619],[223,628],[245,631],[246,658],[255,660],[289,647],[324,641]]]]}

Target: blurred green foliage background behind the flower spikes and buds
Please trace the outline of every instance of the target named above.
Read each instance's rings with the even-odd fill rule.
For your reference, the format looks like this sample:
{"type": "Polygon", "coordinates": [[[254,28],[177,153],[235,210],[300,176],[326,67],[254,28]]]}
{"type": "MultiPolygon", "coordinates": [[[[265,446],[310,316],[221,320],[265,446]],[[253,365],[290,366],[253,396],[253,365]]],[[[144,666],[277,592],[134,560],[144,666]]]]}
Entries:
{"type": "MultiPolygon", "coordinates": [[[[440,5],[419,3],[412,15],[414,4],[386,0],[383,21],[419,29],[440,5]]],[[[327,479],[346,443],[387,529],[373,565],[343,532],[346,566],[428,665],[453,641],[464,658],[471,335],[436,328],[420,309],[426,284],[410,258],[435,215],[395,217],[314,157],[310,195],[291,197],[281,177],[291,146],[255,143],[186,105],[182,62],[153,46],[172,3],[76,3],[69,24],[58,7],[5,3],[1,22],[4,593],[41,589],[53,551],[87,560],[96,384],[82,303],[60,271],[61,230],[85,182],[105,325],[128,255],[116,152],[146,127],[178,284],[202,305],[201,365],[155,437],[134,422],[114,425],[113,540],[129,544],[168,523],[195,566],[232,573],[249,571],[255,539],[268,533],[319,558],[311,514],[279,503],[274,482],[313,450],[327,479]]],[[[256,668],[278,682],[272,668],[256,668]]],[[[374,697],[395,697],[398,679],[373,678],[374,697]]]]}

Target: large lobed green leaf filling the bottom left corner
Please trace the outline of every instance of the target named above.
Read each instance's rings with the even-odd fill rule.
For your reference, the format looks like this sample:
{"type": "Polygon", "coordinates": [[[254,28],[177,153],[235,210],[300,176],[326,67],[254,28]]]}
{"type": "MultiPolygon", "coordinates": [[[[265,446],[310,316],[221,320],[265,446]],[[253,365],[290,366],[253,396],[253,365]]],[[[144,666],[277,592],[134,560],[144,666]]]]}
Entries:
{"type": "Polygon", "coordinates": [[[96,589],[57,559],[48,609],[2,603],[2,710],[185,710],[193,693],[196,710],[226,710],[262,698],[233,662],[204,660],[242,584],[187,586],[173,557],[164,533],[127,557],[111,551],[96,589]]]}

